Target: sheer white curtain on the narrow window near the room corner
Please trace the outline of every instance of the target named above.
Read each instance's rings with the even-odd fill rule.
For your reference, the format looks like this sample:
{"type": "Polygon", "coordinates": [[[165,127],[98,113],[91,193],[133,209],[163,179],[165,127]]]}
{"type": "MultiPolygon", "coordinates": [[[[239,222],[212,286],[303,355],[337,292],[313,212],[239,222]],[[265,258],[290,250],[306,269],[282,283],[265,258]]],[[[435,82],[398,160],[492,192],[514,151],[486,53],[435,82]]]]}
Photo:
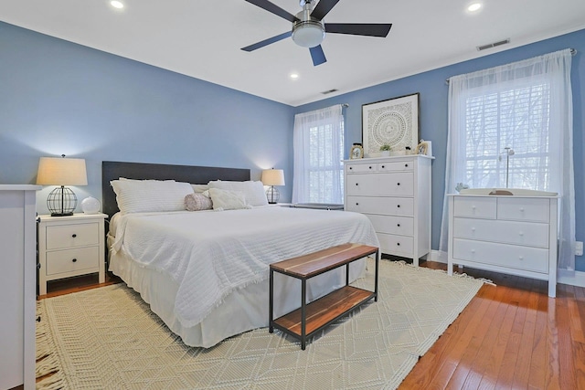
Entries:
{"type": "Polygon", "coordinates": [[[344,203],[342,106],[294,116],[293,203],[344,203]]]}

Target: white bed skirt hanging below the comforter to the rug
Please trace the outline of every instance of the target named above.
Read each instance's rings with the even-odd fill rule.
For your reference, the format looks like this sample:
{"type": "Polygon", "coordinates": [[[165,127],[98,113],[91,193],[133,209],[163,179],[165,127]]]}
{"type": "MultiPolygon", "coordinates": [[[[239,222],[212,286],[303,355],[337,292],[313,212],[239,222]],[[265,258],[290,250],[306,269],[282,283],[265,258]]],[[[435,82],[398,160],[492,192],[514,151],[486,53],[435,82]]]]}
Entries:
{"type": "MultiPolygon", "coordinates": [[[[112,237],[108,237],[111,248],[112,237]]],[[[270,287],[266,279],[230,293],[203,321],[192,327],[183,326],[175,315],[177,283],[163,272],[146,269],[122,251],[110,251],[110,271],[119,276],[150,305],[166,326],[194,347],[212,347],[242,332],[268,327],[270,287]]],[[[363,277],[366,260],[350,264],[350,281],[363,277]]],[[[326,272],[307,281],[307,301],[315,300],[345,285],[345,267],[326,272]]],[[[301,281],[274,273],[274,318],[301,306],[301,281]]],[[[268,329],[266,330],[268,332],[268,329]]]]}

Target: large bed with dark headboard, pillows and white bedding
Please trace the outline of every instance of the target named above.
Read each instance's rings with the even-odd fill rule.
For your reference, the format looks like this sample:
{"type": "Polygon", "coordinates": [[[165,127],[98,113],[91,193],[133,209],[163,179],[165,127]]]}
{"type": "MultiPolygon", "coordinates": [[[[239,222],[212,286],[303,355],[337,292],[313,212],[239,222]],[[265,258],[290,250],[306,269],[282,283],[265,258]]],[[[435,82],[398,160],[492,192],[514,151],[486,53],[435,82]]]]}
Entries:
{"type": "MultiPolygon", "coordinates": [[[[110,216],[109,270],[139,292],[190,346],[208,348],[268,326],[272,262],[346,242],[379,246],[374,228],[361,214],[262,204],[263,186],[250,181],[248,169],[103,162],[102,199],[104,213],[110,216]],[[156,203],[159,197],[185,198],[181,191],[188,192],[187,184],[194,193],[210,187],[207,192],[213,194],[216,208],[141,208],[149,199],[156,203]],[[129,193],[121,186],[132,188],[133,196],[126,196],[129,193]],[[165,191],[151,196],[154,187],[165,191]],[[222,204],[219,195],[255,204],[229,209],[230,203],[222,204]]],[[[363,276],[365,269],[365,260],[355,262],[350,279],[363,276]]],[[[297,280],[277,277],[276,317],[296,309],[301,293],[297,280]]],[[[307,299],[315,300],[344,283],[343,269],[320,275],[307,285],[307,299]]]]}

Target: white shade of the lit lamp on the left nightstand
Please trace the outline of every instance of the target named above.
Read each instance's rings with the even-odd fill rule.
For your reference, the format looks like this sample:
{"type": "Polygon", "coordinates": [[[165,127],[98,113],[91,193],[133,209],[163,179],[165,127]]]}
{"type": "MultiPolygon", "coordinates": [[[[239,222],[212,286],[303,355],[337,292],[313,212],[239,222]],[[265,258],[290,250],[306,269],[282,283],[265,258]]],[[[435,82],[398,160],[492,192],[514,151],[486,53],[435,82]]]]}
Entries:
{"type": "Polygon", "coordinates": [[[85,160],[81,158],[41,157],[38,162],[37,184],[87,185],[85,160]]]}

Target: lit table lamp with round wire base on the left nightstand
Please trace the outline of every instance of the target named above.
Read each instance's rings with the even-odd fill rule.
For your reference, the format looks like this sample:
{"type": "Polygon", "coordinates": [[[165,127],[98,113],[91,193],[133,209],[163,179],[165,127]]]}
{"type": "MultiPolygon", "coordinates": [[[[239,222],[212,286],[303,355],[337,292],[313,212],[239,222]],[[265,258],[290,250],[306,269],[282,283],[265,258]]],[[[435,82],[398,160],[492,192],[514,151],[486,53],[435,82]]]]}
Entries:
{"type": "Polygon", "coordinates": [[[51,216],[72,216],[77,196],[65,185],[87,185],[85,160],[80,158],[41,157],[38,162],[37,184],[58,185],[47,198],[51,216]]]}

